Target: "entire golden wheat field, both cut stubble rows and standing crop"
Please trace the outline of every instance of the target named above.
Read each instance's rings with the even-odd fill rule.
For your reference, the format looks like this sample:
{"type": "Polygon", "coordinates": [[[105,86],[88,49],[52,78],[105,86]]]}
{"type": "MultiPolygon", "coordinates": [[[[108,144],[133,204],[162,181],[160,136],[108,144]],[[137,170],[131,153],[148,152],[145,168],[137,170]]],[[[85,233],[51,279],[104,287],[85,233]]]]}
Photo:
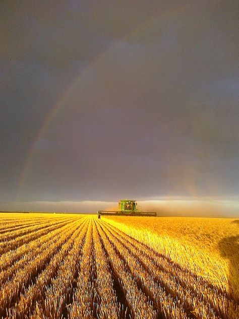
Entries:
{"type": "Polygon", "coordinates": [[[0,218],[2,318],[239,318],[238,220],[0,218]]]}

